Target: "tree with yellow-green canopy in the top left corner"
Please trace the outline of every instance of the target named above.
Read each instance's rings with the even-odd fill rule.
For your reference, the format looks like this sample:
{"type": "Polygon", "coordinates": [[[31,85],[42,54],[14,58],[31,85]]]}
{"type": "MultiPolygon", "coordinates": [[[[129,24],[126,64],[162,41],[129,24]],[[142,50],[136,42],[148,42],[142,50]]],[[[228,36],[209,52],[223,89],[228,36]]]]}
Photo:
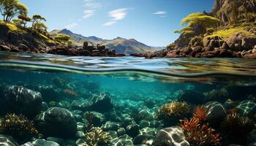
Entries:
{"type": "Polygon", "coordinates": [[[26,15],[28,8],[18,0],[0,0],[0,13],[4,21],[10,22],[17,15],[26,15]]]}

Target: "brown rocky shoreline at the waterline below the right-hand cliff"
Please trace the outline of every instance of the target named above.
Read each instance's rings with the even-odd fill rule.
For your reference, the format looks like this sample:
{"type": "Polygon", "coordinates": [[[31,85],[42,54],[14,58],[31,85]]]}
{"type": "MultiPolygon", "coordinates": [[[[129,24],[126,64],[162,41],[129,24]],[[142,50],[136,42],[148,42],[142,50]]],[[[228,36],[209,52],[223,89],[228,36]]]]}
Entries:
{"type": "MultiPolygon", "coordinates": [[[[255,32],[256,34],[256,32],[255,32]]],[[[192,42],[188,47],[167,48],[155,53],[132,54],[145,58],[246,58],[256,59],[256,36],[240,34],[239,32],[228,39],[222,37],[205,38],[192,42]]]]}

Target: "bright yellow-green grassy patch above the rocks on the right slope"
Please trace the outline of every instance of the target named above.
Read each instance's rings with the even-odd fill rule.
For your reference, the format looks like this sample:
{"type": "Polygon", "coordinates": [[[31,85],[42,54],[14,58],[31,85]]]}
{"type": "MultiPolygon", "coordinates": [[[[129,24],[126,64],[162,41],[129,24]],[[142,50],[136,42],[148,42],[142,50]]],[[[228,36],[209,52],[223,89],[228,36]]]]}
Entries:
{"type": "Polygon", "coordinates": [[[244,28],[238,27],[238,28],[229,28],[224,29],[220,31],[216,31],[211,35],[208,35],[207,37],[222,37],[223,39],[227,39],[228,37],[236,34],[237,32],[240,32],[241,34],[249,34],[249,35],[255,35],[252,32],[244,30],[244,28]]]}

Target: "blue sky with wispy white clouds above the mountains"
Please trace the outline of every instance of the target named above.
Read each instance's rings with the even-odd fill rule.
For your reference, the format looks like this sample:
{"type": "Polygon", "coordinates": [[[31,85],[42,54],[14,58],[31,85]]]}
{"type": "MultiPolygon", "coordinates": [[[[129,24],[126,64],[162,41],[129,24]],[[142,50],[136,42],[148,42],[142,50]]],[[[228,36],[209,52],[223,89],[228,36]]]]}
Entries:
{"type": "Polygon", "coordinates": [[[85,37],[124,37],[164,47],[174,42],[181,19],[211,12],[214,0],[20,0],[29,16],[47,19],[48,31],[67,28],[85,37]]]}

